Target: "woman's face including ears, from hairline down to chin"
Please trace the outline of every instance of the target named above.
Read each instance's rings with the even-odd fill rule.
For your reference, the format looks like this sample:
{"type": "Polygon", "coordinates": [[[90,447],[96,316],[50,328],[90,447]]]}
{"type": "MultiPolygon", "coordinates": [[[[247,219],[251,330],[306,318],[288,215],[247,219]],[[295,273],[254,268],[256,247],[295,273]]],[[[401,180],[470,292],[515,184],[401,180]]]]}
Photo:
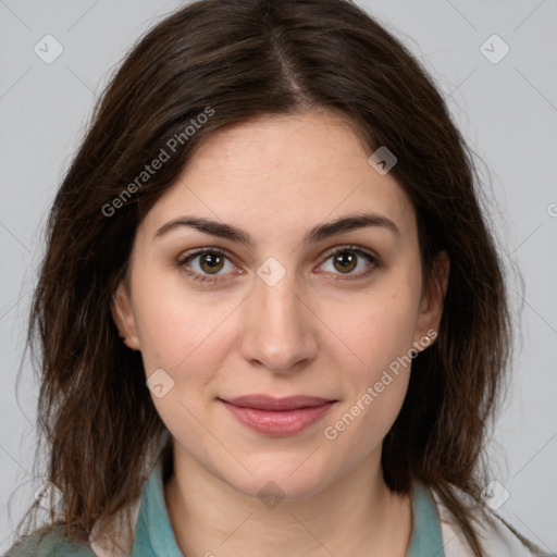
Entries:
{"type": "Polygon", "coordinates": [[[379,469],[442,294],[370,154],[333,112],[242,123],[139,225],[113,315],[184,466],[293,498],[379,469]]]}

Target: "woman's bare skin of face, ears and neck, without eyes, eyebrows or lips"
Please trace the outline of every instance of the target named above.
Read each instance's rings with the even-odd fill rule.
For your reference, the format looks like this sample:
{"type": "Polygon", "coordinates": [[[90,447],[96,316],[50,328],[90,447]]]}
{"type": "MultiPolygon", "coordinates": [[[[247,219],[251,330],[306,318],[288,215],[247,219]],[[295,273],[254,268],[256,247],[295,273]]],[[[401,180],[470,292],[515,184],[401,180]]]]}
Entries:
{"type": "Polygon", "coordinates": [[[151,397],[173,437],[165,499],[185,555],[407,553],[410,498],[389,492],[380,461],[410,367],[334,441],[324,436],[391,362],[423,349],[428,331],[438,329],[448,280],[442,253],[437,280],[422,284],[413,208],[370,154],[333,111],[243,122],[200,145],[137,230],[112,312],[125,344],[140,350],[146,376],[163,369],[174,381],[151,397]],[[388,218],[399,233],[366,226],[304,242],[313,226],[362,212],[388,218]],[[184,215],[232,224],[253,245],[188,226],[153,237],[184,215]],[[356,253],[348,270],[335,265],[330,252],[345,245],[379,264],[356,253]],[[200,256],[180,267],[203,247],[226,257],[212,271],[200,256]],[[285,271],[273,286],[257,274],[270,257],[285,271]],[[185,269],[215,281],[196,282],[185,269]],[[305,431],[271,437],[218,400],[253,393],[337,403],[305,431]],[[269,482],[284,497],[273,508],[258,497],[269,482]]]}

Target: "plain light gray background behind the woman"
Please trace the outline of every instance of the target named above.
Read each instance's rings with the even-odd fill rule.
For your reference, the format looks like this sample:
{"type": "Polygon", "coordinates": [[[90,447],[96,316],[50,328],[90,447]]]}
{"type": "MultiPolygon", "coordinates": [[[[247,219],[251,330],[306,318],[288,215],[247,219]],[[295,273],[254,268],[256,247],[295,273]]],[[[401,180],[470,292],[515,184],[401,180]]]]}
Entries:
{"type": "MultiPolygon", "coordinates": [[[[0,0],[0,550],[42,483],[33,478],[38,386],[27,360],[17,397],[15,380],[46,212],[109,74],[182,3],[0,0]],[[47,34],[64,49],[51,64],[34,52],[47,34]]],[[[486,202],[521,334],[490,445],[493,479],[510,495],[498,511],[557,553],[557,1],[358,3],[425,64],[485,163],[486,202]],[[498,63],[482,50],[493,59],[500,42],[481,50],[493,34],[510,48],[498,63]],[[523,300],[511,262],[524,278],[523,300]]]]}

